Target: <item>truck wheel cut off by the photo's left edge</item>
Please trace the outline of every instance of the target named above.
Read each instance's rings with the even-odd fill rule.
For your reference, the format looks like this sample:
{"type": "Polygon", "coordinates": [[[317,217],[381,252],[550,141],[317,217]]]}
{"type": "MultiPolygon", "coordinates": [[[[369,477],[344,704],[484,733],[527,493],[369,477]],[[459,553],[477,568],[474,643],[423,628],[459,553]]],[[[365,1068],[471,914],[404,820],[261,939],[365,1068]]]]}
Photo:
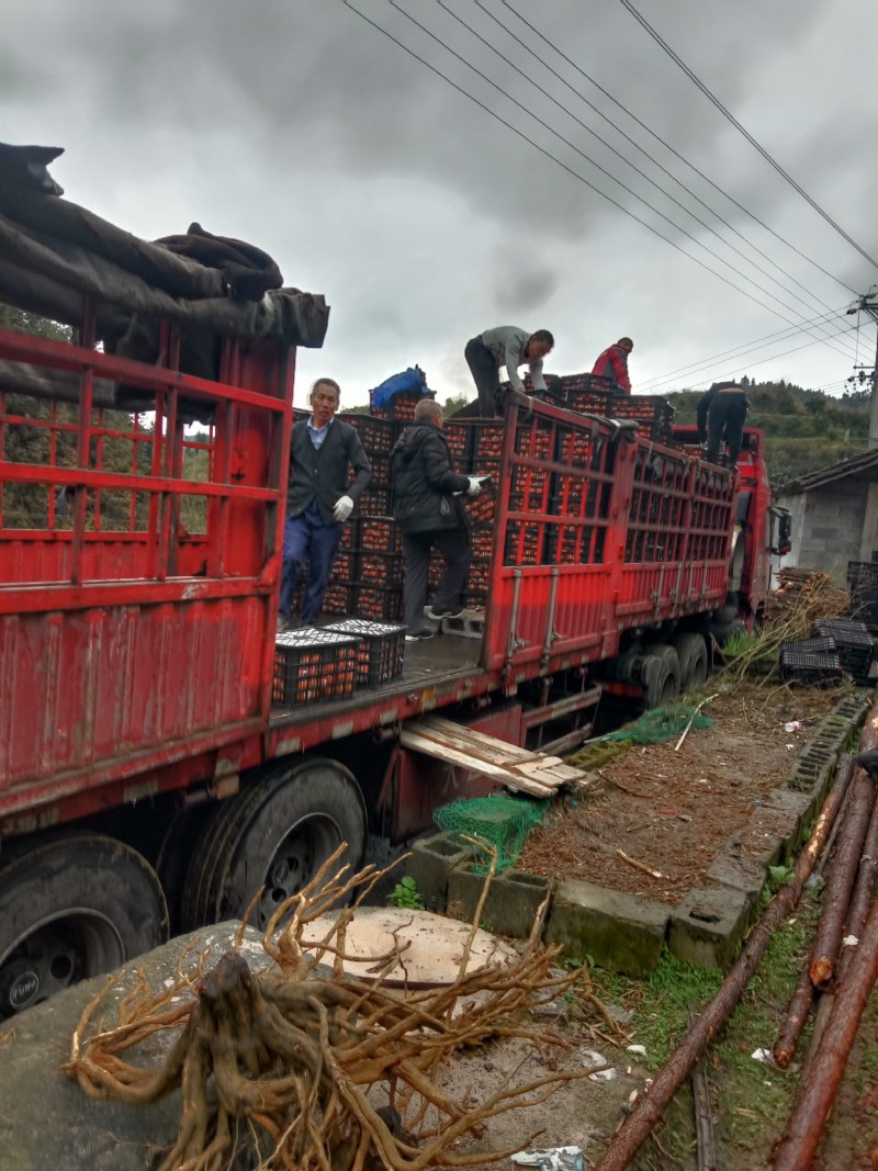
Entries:
{"type": "Polygon", "coordinates": [[[97,834],[15,843],[0,867],[0,1016],[166,939],[162,886],[129,845],[97,834]]]}

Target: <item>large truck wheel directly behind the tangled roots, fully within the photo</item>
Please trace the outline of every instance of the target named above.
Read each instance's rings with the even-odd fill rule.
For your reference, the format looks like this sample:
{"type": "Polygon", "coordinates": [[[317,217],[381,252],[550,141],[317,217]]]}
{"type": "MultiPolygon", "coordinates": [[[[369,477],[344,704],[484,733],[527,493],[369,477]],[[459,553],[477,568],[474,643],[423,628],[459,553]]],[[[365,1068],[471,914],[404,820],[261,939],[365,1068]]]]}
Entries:
{"type": "Polygon", "coordinates": [[[240,919],[255,896],[253,926],[316,875],[342,843],[338,865],[352,874],[365,851],[366,815],[354,775],[334,760],[266,772],[224,802],[196,849],[184,893],[184,923],[240,919]]]}

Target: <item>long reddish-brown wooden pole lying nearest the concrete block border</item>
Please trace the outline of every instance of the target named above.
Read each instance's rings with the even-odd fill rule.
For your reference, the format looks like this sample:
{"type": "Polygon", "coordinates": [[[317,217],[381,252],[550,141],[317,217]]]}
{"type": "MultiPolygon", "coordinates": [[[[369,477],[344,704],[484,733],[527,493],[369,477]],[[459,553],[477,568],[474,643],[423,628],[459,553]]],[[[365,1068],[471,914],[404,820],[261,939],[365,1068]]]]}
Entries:
{"type": "MultiPolygon", "coordinates": [[[[823,803],[811,838],[796,862],[793,877],[781,886],[768,904],[766,913],[750,931],[741,954],[720,985],[719,992],[656,1075],[650,1093],[638,1097],[633,1110],[616,1131],[595,1171],[624,1171],[629,1166],[646,1141],[646,1136],[665,1112],[671,1098],[692,1073],[698,1059],[734,1012],[768,950],[771,936],[798,902],[805,881],[825,844],[853,772],[851,758],[846,756],[843,760],[844,763],[839,765],[835,783],[823,803]]],[[[878,949],[876,951],[878,952],[878,949]]]]}

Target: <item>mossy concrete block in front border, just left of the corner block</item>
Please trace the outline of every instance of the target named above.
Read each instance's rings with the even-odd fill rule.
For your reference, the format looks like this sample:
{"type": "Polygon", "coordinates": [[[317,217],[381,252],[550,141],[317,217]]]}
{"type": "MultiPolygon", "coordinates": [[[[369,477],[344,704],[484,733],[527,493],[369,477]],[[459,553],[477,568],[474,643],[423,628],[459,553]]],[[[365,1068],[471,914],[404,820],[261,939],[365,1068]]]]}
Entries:
{"type": "Polygon", "coordinates": [[[625,975],[649,975],[661,954],[672,908],[592,883],[563,882],[555,891],[546,941],[565,956],[625,975]]]}

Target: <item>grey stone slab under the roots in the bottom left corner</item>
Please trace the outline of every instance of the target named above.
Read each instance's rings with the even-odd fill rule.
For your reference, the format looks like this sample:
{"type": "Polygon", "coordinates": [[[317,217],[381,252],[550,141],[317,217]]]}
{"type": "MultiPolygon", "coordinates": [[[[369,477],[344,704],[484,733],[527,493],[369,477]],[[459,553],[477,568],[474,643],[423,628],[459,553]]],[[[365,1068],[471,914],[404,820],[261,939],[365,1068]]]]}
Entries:
{"type": "MultiPolygon", "coordinates": [[[[173,975],[186,949],[208,950],[208,966],[232,946],[240,924],[224,923],[172,939],[137,964],[149,984],[160,988],[173,975]]],[[[247,930],[242,954],[256,971],[273,966],[261,936],[247,930]]],[[[130,967],[130,965],[126,965],[130,967]]],[[[12,1036],[0,1049],[0,1167],[4,1171],[149,1171],[158,1150],[170,1146],[178,1124],[179,1093],[149,1107],[88,1097],[60,1067],[70,1055],[70,1038],[83,1008],[105,977],[85,980],[7,1022],[12,1036]]],[[[133,987],[128,978],[108,995],[116,1004],[133,987]]],[[[108,1011],[104,1019],[112,1021],[108,1011]]],[[[159,1063],[177,1034],[157,1034],[138,1049],[159,1063]]]]}

